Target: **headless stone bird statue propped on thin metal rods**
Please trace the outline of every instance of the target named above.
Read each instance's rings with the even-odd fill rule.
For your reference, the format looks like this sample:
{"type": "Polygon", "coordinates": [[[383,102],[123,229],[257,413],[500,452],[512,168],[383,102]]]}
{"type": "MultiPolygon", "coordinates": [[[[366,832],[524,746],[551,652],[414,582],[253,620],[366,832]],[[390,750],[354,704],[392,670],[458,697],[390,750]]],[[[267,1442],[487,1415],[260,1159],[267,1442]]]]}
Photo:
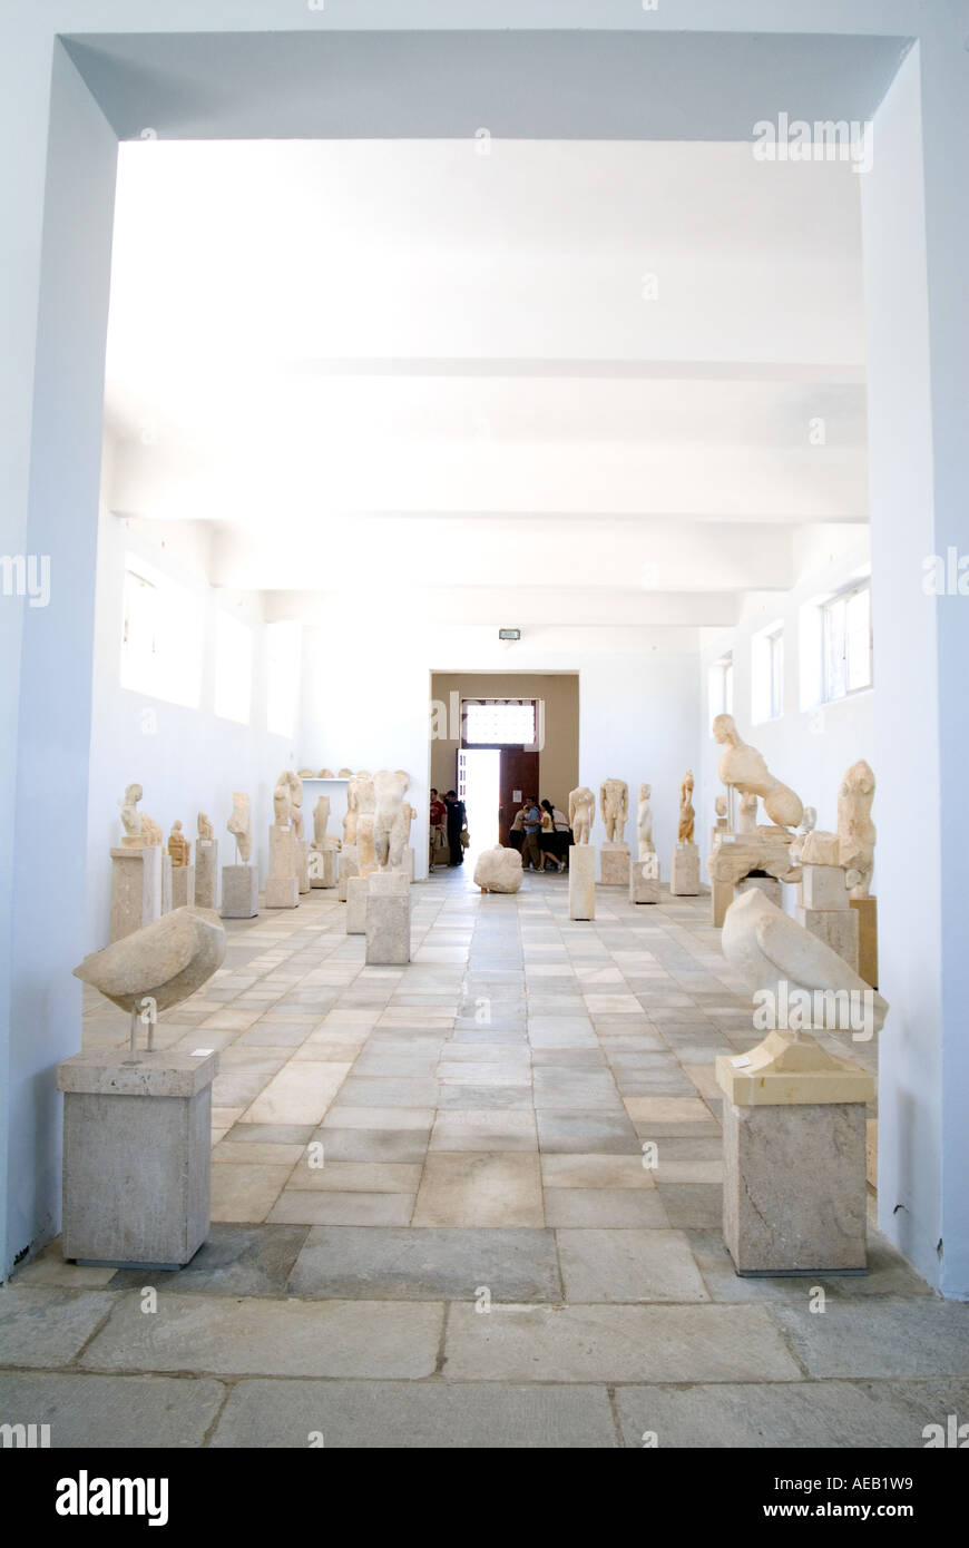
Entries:
{"type": "Polygon", "coordinates": [[[226,932],[211,909],[173,909],[153,924],[91,952],[74,977],[93,985],[132,1023],[146,997],[159,1011],[187,1000],[221,966],[226,932]]]}

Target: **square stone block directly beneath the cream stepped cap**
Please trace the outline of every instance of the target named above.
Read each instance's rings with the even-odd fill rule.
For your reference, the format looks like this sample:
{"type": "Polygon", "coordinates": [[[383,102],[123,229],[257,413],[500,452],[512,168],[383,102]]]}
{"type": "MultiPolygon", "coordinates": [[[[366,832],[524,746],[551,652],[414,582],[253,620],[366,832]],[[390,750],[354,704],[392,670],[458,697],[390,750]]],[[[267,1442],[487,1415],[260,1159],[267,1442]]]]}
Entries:
{"type": "Polygon", "coordinates": [[[864,1269],[864,1102],[724,1101],[723,1238],[738,1274],[864,1269]]]}

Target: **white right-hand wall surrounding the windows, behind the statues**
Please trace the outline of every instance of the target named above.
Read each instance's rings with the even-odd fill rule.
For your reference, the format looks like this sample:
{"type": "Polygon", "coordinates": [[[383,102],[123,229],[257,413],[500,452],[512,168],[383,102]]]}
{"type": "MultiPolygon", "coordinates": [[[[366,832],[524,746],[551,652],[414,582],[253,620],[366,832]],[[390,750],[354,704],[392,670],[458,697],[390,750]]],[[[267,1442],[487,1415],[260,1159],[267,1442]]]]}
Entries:
{"type": "MultiPolygon", "coordinates": [[[[714,800],[723,794],[717,765],[723,749],[710,735],[710,666],[728,650],[734,655],[734,717],[745,741],[763,752],[777,779],[800,796],[805,807],[817,808],[817,827],[837,827],[837,786],[845,769],[858,759],[867,759],[878,777],[875,749],[876,687],[853,694],[822,709],[802,704],[802,675],[813,663],[803,661],[803,650],[819,650],[819,642],[802,638],[802,610],[816,598],[837,591],[870,563],[868,529],[861,526],[813,528],[800,534],[797,548],[799,579],[791,591],[754,591],[745,598],[735,628],[704,630],[701,649],[701,776],[695,800],[701,853],[709,850],[709,828],[714,825],[714,800]],[[783,715],[777,720],[752,720],[751,684],[752,655],[757,633],[776,622],[783,624],[783,715]]],[[[875,641],[875,683],[879,680],[878,638],[875,641]]],[[[878,793],[873,817],[878,825],[878,793]]],[[[760,822],[769,822],[760,808],[760,822]]],[[[875,851],[878,865],[878,848],[875,851]]],[[[878,873],[876,873],[878,882],[878,873]]],[[[785,904],[793,910],[794,892],[785,887],[785,904]]]]}

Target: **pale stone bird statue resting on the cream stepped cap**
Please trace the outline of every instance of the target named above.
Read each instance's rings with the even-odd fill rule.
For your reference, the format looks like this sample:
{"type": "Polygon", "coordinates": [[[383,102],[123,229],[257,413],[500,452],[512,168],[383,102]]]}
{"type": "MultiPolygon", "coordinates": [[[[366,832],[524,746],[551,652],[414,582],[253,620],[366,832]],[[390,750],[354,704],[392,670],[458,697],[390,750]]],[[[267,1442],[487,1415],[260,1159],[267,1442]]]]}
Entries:
{"type": "Polygon", "coordinates": [[[752,887],[741,892],[723,921],[723,955],[737,969],[748,988],[769,989],[789,1000],[791,991],[847,989],[870,995],[861,1003],[871,1006],[873,1029],[879,1031],[889,1005],[853,968],[817,935],[791,920],[782,909],[752,887]]]}

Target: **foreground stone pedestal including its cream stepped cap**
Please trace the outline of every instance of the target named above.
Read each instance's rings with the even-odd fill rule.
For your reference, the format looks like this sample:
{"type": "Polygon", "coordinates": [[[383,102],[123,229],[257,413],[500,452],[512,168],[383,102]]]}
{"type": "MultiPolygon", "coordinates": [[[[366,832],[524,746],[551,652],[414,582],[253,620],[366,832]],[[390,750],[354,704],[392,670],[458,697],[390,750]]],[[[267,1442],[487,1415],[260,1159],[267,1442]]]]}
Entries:
{"type": "Polygon", "coordinates": [[[871,1076],[811,1037],[720,1054],[723,1237],[738,1274],[864,1269],[871,1076]]]}

